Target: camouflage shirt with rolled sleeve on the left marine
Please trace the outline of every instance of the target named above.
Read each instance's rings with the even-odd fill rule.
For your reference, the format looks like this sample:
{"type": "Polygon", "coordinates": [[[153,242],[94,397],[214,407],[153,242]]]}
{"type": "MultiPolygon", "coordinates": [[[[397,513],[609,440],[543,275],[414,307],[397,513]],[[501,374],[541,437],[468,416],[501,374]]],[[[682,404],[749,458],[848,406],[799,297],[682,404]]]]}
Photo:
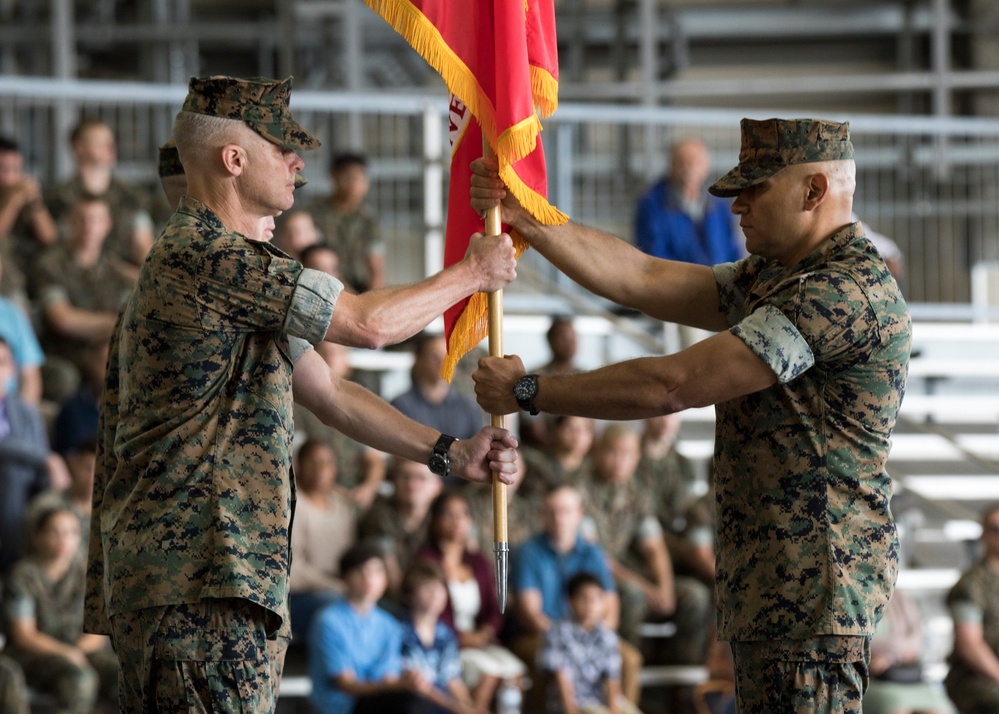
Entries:
{"type": "Polygon", "coordinates": [[[181,199],[112,337],[88,631],[204,598],[285,615],[292,364],[323,339],[339,287],[181,199]]]}

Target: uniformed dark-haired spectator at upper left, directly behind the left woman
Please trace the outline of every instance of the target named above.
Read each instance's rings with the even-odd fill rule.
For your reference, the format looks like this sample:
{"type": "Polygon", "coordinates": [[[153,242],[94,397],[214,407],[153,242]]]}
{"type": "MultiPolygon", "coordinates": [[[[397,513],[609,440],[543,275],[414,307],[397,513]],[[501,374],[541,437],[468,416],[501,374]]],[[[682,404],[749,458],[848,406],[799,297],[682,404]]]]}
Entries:
{"type": "Polygon", "coordinates": [[[104,247],[119,260],[132,265],[134,277],[134,266],[142,263],[153,245],[149,198],[114,175],[118,148],[111,127],[104,121],[96,117],[81,118],[69,141],[75,173],[55,186],[45,202],[60,222],[69,219],[74,207],[84,199],[106,203],[113,230],[104,247]]]}

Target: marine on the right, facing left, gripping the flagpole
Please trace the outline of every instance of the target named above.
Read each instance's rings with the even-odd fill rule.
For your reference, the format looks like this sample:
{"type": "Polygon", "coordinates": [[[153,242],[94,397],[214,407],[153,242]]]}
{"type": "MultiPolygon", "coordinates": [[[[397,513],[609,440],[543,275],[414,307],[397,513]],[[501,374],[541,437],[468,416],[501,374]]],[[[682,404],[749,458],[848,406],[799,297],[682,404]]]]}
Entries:
{"type": "Polygon", "coordinates": [[[718,333],[580,375],[535,378],[517,357],[486,358],[476,394],[492,414],[520,406],[603,419],[715,404],[718,636],[732,642],[739,711],[860,712],[871,635],[898,569],[885,461],[909,313],[851,218],[849,127],[741,128],[739,165],[709,190],[735,196],[751,255],[713,268],[643,256],[576,224],[542,226],[494,164],[473,164],[472,207],[500,203],[503,222],[571,278],[718,333]]]}

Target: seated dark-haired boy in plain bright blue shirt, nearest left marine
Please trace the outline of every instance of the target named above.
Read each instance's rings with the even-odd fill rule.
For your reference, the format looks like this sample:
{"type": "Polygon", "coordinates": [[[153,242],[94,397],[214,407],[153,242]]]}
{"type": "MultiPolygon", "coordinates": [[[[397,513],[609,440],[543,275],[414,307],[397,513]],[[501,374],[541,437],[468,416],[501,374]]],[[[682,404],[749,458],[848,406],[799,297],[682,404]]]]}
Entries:
{"type": "Polygon", "coordinates": [[[424,712],[429,685],[400,669],[402,628],[378,607],[388,577],[378,549],[358,544],[340,559],[346,598],[309,627],[310,702],[317,714],[424,712]]]}

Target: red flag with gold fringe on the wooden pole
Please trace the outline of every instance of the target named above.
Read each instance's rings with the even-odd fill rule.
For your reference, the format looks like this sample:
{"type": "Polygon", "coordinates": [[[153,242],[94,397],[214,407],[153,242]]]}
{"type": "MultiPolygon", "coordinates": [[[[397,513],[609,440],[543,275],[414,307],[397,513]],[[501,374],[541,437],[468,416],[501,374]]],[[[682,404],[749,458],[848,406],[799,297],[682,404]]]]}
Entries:
{"type": "MultiPolygon", "coordinates": [[[[553,0],[365,0],[444,78],[449,108],[451,185],[444,264],[465,255],[482,218],[469,205],[469,165],[482,155],[482,137],[496,154],[500,176],[538,220],[568,217],[548,203],[541,120],[558,106],[558,55],[553,0]]],[[[518,255],[527,247],[514,236],[518,255]]],[[[487,298],[476,293],[444,313],[448,355],[455,365],[488,329],[487,298]]]]}

